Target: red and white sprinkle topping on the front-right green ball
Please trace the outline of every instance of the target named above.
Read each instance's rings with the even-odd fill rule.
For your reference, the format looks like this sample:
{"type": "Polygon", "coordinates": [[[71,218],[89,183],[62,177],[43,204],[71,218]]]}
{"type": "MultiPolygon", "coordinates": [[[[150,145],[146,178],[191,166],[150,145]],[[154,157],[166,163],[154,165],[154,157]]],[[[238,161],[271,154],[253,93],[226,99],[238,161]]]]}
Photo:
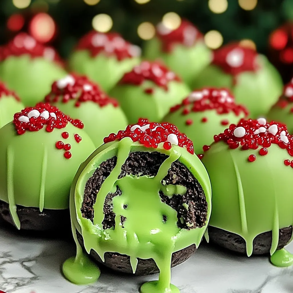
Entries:
{"type": "MultiPolygon", "coordinates": [[[[267,122],[265,118],[241,119],[237,125],[231,124],[223,133],[215,135],[214,141],[223,141],[231,149],[241,147],[243,150],[256,150],[261,147],[261,156],[269,154],[270,146],[277,144],[293,156],[293,137],[288,133],[286,125],[274,121],[267,122]]],[[[287,160],[284,164],[287,166],[287,160]]]]}

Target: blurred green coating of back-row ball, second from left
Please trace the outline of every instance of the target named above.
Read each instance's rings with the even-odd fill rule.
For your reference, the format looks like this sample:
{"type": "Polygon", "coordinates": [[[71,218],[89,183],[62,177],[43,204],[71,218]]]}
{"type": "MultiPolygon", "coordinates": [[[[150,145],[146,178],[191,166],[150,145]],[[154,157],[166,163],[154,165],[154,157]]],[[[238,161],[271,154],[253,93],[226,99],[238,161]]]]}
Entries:
{"type": "Polygon", "coordinates": [[[87,75],[96,81],[106,92],[117,84],[122,76],[140,63],[140,58],[127,58],[122,61],[115,56],[106,56],[103,53],[92,57],[88,50],[78,50],[69,57],[71,71],[87,75]]]}

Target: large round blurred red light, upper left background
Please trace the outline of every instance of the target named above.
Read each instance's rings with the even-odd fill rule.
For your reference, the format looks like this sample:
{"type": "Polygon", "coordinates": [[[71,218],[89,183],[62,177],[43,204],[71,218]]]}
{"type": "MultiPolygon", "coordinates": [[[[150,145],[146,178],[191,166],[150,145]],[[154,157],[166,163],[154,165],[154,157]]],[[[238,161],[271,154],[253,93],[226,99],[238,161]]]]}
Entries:
{"type": "Polygon", "coordinates": [[[36,40],[46,43],[54,37],[56,24],[49,14],[38,13],[30,21],[29,30],[36,40]]]}

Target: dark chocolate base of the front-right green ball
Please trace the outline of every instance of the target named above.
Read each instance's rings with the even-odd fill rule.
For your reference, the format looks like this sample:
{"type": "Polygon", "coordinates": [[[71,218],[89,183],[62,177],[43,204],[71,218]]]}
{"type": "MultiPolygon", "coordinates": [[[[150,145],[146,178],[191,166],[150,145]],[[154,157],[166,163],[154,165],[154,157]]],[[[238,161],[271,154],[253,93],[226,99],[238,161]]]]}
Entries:
{"type": "MultiPolygon", "coordinates": [[[[238,234],[228,232],[213,226],[208,227],[209,240],[228,250],[246,254],[246,242],[238,234]]],[[[290,241],[292,226],[279,229],[277,249],[282,249],[290,241]]],[[[253,240],[253,255],[268,254],[272,244],[272,231],[261,233],[253,240]]]]}

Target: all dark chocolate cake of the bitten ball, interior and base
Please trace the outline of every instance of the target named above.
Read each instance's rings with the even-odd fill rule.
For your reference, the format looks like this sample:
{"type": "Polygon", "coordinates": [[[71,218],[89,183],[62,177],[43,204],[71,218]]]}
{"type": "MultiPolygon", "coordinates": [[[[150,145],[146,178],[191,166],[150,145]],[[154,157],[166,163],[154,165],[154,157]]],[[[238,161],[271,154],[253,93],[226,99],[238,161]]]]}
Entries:
{"type": "MultiPolygon", "coordinates": [[[[156,176],[159,167],[168,158],[167,155],[159,152],[132,152],[122,166],[122,171],[118,178],[122,178],[126,175],[134,176],[156,176]]],[[[81,207],[82,216],[90,219],[93,222],[93,205],[96,201],[97,193],[105,181],[110,175],[117,162],[117,157],[112,157],[102,162],[99,168],[93,173],[91,178],[88,179],[85,191],[84,201],[81,207]]],[[[173,195],[169,198],[160,192],[162,202],[171,206],[177,211],[177,226],[180,229],[194,229],[200,228],[205,225],[207,220],[207,201],[202,186],[194,178],[193,174],[188,168],[180,161],[172,163],[168,174],[162,180],[163,185],[183,185],[186,187],[186,193],[184,195],[173,195]]],[[[113,205],[111,201],[113,197],[120,196],[121,190],[117,187],[115,193],[108,193],[104,203],[104,219],[103,228],[108,229],[115,228],[115,213],[113,212],[113,205]]],[[[124,207],[127,209],[127,205],[124,207]]],[[[121,217],[121,223],[126,221],[125,217],[121,217]]],[[[162,218],[163,222],[168,221],[166,216],[162,218]]],[[[83,246],[82,236],[79,235],[79,242],[83,246]]],[[[173,254],[172,266],[176,266],[182,263],[190,257],[195,251],[195,246],[192,245],[188,248],[178,251],[173,254]]],[[[91,256],[94,260],[101,262],[95,251],[91,251],[91,256]]],[[[125,273],[132,273],[130,265],[130,258],[127,255],[120,255],[118,253],[106,253],[105,263],[107,267],[125,273]]],[[[139,260],[136,274],[152,274],[158,272],[158,268],[154,260],[139,260]]]]}

